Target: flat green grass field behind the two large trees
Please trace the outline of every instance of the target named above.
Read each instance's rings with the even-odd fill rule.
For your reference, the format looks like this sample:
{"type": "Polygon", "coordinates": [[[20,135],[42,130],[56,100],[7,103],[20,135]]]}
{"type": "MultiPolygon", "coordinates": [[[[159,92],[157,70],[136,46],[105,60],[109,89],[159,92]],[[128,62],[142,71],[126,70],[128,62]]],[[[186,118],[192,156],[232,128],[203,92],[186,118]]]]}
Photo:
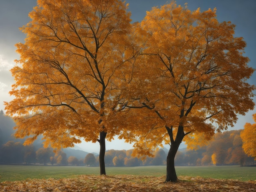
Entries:
{"type": "MultiPolygon", "coordinates": [[[[106,167],[108,175],[145,175],[163,176],[165,166],[144,167],[106,167]]],[[[240,181],[256,180],[256,167],[232,166],[177,166],[177,176],[200,176],[213,179],[238,179],[240,181]]],[[[99,167],[66,167],[66,166],[27,166],[0,165],[0,182],[25,179],[60,179],[76,175],[99,175],[99,167]]]]}

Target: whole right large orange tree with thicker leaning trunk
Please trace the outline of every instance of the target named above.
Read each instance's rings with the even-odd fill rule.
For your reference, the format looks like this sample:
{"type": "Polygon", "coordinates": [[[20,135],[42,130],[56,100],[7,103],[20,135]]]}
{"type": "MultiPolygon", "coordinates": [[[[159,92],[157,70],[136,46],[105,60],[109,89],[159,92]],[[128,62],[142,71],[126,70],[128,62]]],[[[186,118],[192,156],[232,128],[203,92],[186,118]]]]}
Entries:
{"type": "Polygon", "coordinates": [[[255,87],[246,83],[254,69],[243,56],[245,41],[234,37],[235,25],[218,22],[216,9],[190,11],[171,2],[153,7],[136,27],[144,43],[125,94],[127,106],[139,108],[130,116],[142,125],[122,138],[145,155],[170,143],[166,181],[175,182],[183,140],[193,148],[205,144],[254,108],[255,87]]]}

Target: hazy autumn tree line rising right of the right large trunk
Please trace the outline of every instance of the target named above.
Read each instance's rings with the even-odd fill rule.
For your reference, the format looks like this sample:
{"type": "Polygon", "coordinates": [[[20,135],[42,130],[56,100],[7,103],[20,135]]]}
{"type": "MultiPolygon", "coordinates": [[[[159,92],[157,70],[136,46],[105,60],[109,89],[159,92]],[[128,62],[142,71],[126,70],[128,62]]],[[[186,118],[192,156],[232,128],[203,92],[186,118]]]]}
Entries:
{"type": "Polygon", "coordinates": [[[254,158],[245,154],[240,137],[242,129],[216,133],[198,150],[178,151],[175,165],[250,165],[254,158]]]}

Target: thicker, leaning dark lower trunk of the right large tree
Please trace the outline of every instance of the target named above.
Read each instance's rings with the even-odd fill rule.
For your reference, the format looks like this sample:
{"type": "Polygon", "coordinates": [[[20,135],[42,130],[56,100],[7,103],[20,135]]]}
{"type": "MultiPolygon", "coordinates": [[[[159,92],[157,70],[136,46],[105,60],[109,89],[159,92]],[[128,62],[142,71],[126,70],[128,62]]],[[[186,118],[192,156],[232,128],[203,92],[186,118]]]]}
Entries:
{"type": "Polygon", "coordinates": [[[174,142],[173,144],[171,144],[170,150],[168,152],[167,159],[166,159],[166,182],[178,181],[175,167],[174,167],[174,158],[179,146],[180,146],[180,143],[174,142]]]}

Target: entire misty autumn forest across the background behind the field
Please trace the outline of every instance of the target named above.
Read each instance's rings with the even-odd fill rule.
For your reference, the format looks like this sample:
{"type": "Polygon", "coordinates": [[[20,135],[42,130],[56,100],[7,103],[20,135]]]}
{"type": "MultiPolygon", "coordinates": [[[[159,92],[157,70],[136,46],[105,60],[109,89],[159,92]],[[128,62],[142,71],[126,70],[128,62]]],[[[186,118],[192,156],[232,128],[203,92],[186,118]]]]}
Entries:
{"type": "MultiPolygon", "coordinates": [[[[15,123],[0,111],[0,163],[34,165],[80,165],[99,166],[96,153],[67,148],[56,153],[52,148],[43,148],[42,141],[24,146],[24,139],[15,139],[15,123]]],[[[175,165],[246,165],[254,164],[242,149],[241,130],[217,133],[209,143],[198,150],[180,149],[175,156],[175,165]]],[[[141,161],[133,157],[131,150],[108,150],[105,154],[106,166],[166,165],[168,149],[160,148],[154,157],[141,161]]]]}

